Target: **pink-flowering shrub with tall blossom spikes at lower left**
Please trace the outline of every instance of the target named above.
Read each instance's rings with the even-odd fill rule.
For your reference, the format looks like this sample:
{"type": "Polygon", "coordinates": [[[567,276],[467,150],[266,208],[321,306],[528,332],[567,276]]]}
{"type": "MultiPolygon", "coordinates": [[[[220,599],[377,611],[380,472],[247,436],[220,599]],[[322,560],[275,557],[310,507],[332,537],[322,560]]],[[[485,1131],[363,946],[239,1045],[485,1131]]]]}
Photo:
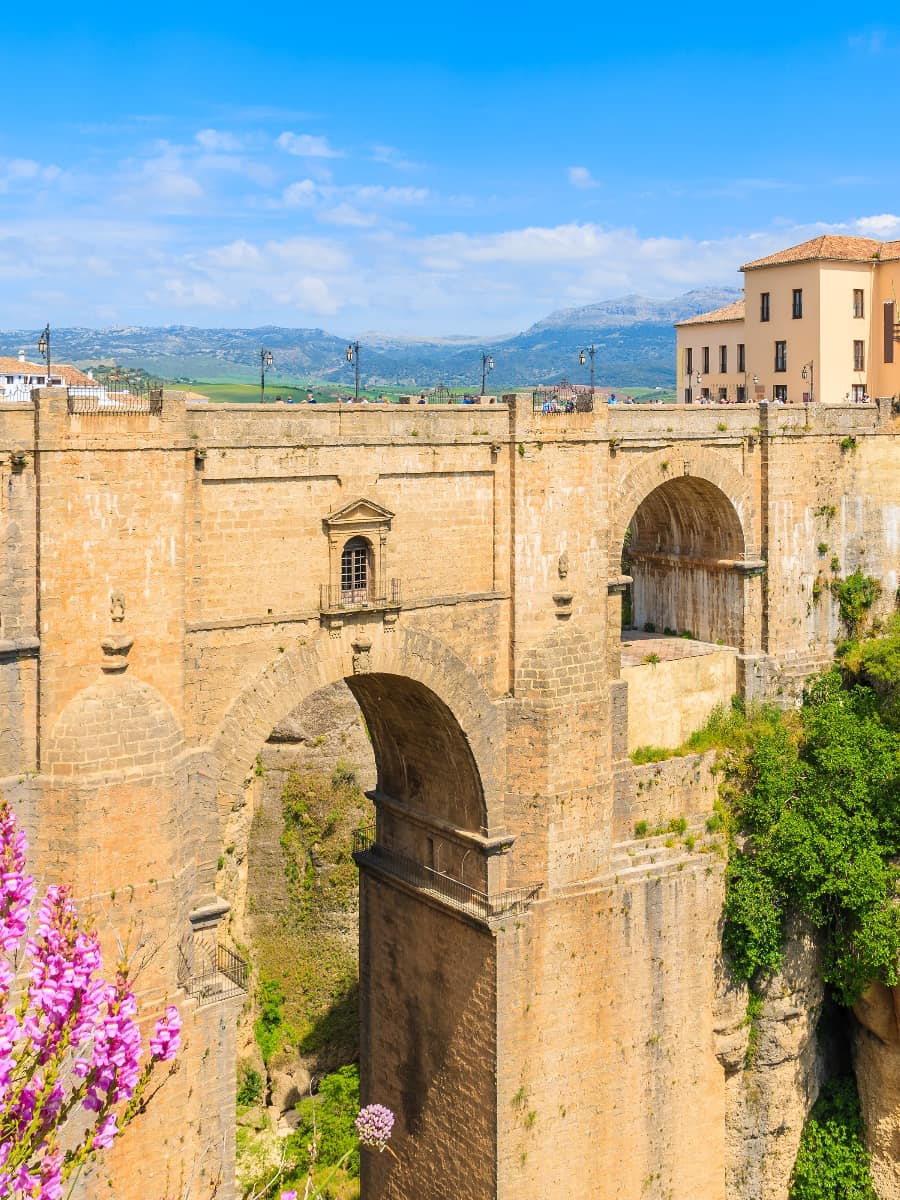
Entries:
{"type": "Polygon", "coordinates": [[[127,972],[100,976],[97,935],[65,887],[50,887],[31,936],[25,835],[0,799],[0,1200],[60,1200],[64,1181],[137,1115],[158,1062],[178,1052],[166,1009],[142,1066],[127,972]],[[70,1123],[78,1134],[64,1135],[70,1123]]]}

